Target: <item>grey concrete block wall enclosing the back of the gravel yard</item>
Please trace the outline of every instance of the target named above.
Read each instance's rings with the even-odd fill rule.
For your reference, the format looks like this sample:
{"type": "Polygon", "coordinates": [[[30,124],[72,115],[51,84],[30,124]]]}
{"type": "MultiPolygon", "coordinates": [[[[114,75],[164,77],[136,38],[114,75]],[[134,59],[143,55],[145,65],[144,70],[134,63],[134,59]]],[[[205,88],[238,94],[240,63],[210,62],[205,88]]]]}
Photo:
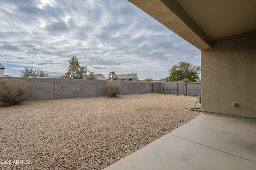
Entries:
{"type": "MultiPolygon", "coordinates": [[[[31,84],[32,96],[28,100],[51,100],[66,98],[88,98],[96,96],[107,96],[106,81],[104,80],[76,80],[58,78],[19,78],[31,84]]],[[[134,82],[120,81],[122,86],[121,95],[163,93],[177,94],[177,82],[134,82]]],[[[185,94],[184,82],[179,83],[179,94],[185,94]]],[[[199,95],[201,93],[201,83],[188,83],[188,95],[199,95]]]]}

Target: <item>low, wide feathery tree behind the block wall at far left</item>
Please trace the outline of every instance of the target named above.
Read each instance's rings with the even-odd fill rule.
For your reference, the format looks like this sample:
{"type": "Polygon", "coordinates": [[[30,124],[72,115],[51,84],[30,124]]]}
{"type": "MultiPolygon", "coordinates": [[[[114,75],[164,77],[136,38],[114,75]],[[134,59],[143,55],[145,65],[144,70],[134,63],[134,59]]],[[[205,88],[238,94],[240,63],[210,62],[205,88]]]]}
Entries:
{"type": "Polygon", "coordinates": [[[21,77],[35,78],[35,77],[47,77],[50,76],[48,72],[40,69],[34,69],[33,67],[25,67],[20,70],[21,77]]]}

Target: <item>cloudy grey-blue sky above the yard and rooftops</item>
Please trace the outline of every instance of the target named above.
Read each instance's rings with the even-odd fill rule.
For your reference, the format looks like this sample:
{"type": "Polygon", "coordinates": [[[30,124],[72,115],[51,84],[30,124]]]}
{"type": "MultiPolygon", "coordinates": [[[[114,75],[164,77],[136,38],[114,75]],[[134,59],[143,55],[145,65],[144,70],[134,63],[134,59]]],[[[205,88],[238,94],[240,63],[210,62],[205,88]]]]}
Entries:
{"type": "Polygon", "coordinates": [[[168,76],[180,61],[200,65],[200,50],[128,0],[0,0],[0,62],[64,75],[68,59],[95,74],[168,76]]]}

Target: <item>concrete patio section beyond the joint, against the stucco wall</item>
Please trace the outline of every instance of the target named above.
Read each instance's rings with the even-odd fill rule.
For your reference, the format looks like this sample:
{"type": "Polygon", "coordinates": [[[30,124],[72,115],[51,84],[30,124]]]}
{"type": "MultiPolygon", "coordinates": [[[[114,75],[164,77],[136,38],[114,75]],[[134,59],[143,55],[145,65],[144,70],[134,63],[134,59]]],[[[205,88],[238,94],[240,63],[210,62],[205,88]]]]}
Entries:
{"type": "Polygon", "coordinates": [[[256,163],[255,120],[203,114],[169,134],[256,163]]]}

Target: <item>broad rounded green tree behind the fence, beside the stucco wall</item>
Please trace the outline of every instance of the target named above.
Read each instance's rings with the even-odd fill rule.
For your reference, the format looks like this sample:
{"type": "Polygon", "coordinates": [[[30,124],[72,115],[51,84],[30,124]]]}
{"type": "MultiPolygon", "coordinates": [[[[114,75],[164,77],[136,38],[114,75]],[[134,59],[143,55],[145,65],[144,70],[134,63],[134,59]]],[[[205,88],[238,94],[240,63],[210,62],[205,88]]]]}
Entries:
{"type": "Polygon", "coordinates": [[[181,61],[179,64],[174,64],[174,66],[169,68],[168,71],[170,76],[167,78],[167,82],[195,82],[196,79],[199,79],[198,74],[201,72],[201,67],[185,61],[181,61]]]}

